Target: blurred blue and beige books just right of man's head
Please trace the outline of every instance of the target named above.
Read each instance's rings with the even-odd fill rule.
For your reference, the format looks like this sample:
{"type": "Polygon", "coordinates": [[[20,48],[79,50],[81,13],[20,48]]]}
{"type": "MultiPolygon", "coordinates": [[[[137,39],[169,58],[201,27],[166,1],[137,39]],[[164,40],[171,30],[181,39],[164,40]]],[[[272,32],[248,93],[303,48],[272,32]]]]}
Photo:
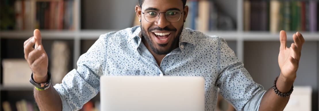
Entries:
{"type": "Polygon", "coordinates": [[[220,12],[213,0],[187,0],[188,17],[184,27],[207,32],[211,30],[235,30],[234,20],[220,12]]]}

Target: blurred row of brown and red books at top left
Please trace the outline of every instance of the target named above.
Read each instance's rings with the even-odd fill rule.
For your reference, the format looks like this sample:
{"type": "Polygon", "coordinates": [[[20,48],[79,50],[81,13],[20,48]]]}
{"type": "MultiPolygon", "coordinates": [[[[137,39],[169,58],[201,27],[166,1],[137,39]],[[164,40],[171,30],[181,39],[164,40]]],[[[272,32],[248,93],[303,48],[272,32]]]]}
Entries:
{"type": "Polygon", "coordinates": [[[73,0],[2,0],[1,30],[73,30],[75,6],[73,0]]]}

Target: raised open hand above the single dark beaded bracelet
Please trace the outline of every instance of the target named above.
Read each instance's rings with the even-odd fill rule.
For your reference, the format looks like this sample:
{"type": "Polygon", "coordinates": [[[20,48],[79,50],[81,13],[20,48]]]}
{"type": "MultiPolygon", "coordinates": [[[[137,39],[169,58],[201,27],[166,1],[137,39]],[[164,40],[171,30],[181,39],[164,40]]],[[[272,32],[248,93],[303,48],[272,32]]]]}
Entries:
{"type": "Polygon", "coordinates": [[[293,34],[293,41],[290,48],[286,46],[287,35],[284,30],[280,31],[280,51],[278,55],[278,64],[281,74],[288,80],[294,81],[296,79],[296,71],[299,66],[301,55],[301,47],[305,42],[303,36],[297,32],[293,34]]]}

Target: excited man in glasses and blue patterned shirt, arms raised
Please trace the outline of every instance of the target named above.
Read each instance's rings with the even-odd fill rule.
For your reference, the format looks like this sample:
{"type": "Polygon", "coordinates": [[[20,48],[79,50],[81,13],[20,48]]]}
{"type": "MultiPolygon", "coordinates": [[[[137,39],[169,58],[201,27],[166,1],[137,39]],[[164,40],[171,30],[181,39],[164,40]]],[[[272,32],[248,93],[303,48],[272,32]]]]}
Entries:
{"type": "Polygon", "coordinates": [[[215,110],[218,88],[237,110],[283,110],[296,78],[302,35],[294,34],[294,43],[287,48],[286,33],[280,32],[281,72],[274,87],[265,91],[252,80],[223,38],[183,28],[189,9],[185,3],[186,0],[139,0],[135,12],[141,26],[101,35],[80,56],[78,69],[70,71],[54,87],[49,84],[48,57],[40,31],[34,30],[34,36],[24,43],[24,52],[33,71],[30,81],[36,87],[34,97],[39,108],[80,109],[99,92],[101,75],[149,75],[204,77],[207,111],[215,110]]]}

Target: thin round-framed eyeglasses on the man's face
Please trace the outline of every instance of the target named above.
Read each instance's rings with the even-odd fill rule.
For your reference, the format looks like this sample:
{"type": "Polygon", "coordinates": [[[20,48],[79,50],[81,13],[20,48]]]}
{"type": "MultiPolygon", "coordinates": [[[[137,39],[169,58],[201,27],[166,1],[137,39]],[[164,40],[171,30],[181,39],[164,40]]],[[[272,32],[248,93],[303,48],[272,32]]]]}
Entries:
{"type": "Polygon", "coordinates": [[[142,11],[142,14],[144,14],[145,20],[150,23],[154,23],[155,21],[157,21],[161,13],[165,13],[166,19],[169,22],[175,23],[181,19],[181,15],[183,12],[180,12],[178,10],[168,10],[167,12],[158,12],[156,10],[146,10],[144,13],[142,11]]]}

